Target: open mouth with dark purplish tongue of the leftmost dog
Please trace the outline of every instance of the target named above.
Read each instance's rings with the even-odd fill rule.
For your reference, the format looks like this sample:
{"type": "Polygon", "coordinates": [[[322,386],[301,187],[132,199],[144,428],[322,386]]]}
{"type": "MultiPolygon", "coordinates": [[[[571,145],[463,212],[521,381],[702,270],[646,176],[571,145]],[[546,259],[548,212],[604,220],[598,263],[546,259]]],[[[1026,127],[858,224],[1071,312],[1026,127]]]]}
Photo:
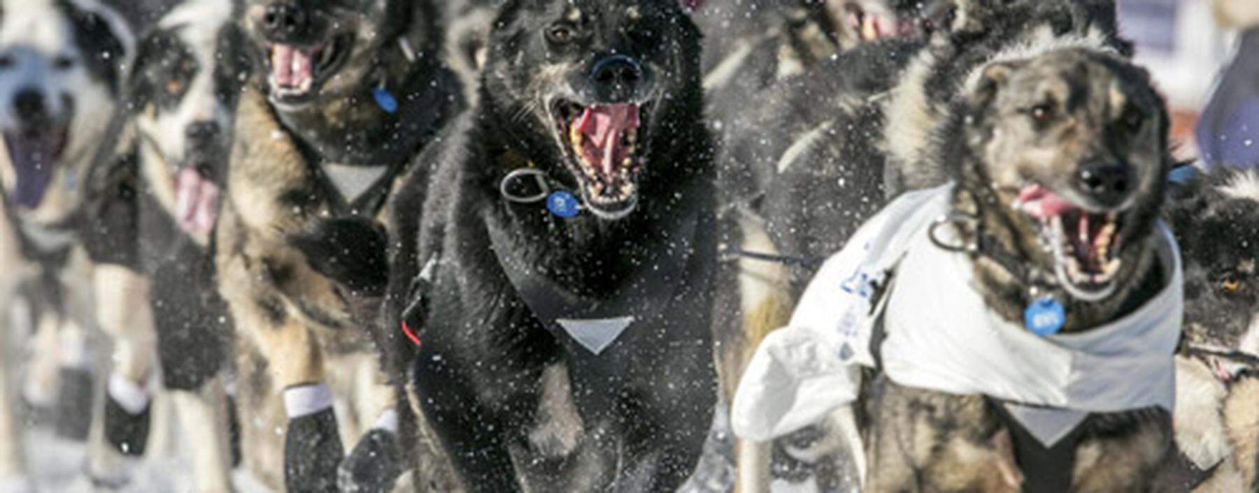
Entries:
{"type": "Polygon", "coordinates": [[[5,147],[16,177],[13,201],[23,209],[35,209],[44,200],[53,182],[57,162],[69,140],[67,126],[44,127],[4,132],[5,147]]]}

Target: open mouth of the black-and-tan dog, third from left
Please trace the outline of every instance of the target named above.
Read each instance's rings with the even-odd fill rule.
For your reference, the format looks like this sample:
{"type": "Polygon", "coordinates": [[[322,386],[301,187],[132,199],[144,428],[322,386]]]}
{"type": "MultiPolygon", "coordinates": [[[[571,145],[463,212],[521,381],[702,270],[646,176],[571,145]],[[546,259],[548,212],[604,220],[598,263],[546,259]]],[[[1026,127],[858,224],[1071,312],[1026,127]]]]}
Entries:
{"type": "Polygon", "coordinates": [[[345,62],[349,35],[332,36],[316,47],[276,43],[267,48],[272,93],[281,99],[301,99],[312,94],[345,62]]]}

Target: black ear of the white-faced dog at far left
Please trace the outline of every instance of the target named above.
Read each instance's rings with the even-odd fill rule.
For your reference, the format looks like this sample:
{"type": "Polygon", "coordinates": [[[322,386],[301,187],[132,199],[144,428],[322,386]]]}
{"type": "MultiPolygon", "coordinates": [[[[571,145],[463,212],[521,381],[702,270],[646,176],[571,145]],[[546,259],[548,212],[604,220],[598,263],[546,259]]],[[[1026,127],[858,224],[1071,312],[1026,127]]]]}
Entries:
{"type": "Polygon", "coordinates": [[[102,5],[86,6],[71,0],[62,0],[60,5],[74,26],[83,63],[92,72],[104,74],[110,89],[117,93],[135,53],[131,26],[118,13],[102,5]]]}

